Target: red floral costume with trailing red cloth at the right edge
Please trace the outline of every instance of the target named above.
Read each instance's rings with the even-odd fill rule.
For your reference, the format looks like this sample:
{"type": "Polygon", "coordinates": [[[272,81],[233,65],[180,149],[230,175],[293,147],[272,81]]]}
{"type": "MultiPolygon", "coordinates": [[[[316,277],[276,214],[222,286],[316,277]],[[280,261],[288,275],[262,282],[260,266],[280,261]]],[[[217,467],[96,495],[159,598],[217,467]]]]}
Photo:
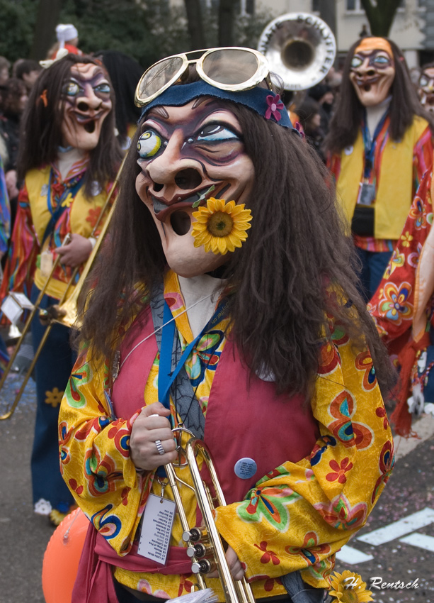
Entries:
{"type": "Polygon", "coordinates": [[[396,421],[398,433],[404,435],[408,435],[411,428],[407,407],[411,387],[417,384],[423,390],[423,379],[428,379],[430,370],[427,366],[423,377],[418,375],[416,360],[430,345],[429,331],[433,324],[432,186],[431,167],[414,197],[384,278],[368,305],[379,335],[401,369],[399,405],[392,419],[396,421]]]}

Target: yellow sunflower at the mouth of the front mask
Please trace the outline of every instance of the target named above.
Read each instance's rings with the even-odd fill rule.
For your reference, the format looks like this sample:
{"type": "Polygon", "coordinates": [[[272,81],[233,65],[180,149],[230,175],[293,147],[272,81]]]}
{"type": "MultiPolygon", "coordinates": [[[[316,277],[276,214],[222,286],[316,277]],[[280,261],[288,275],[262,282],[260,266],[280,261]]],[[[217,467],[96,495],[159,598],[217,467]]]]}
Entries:
{"type": "Polygon", "coordinates": [[[195,247],[203,245],[205,251],[211,250],[216,255],[241,247],[247,238],[246,231],[251,228],[250,209],[244,209],[244,204],[226,203],[214,197],[207,199],[206,207],[193,211],[193,217],[196,218],[192,231],[195,247]]]}

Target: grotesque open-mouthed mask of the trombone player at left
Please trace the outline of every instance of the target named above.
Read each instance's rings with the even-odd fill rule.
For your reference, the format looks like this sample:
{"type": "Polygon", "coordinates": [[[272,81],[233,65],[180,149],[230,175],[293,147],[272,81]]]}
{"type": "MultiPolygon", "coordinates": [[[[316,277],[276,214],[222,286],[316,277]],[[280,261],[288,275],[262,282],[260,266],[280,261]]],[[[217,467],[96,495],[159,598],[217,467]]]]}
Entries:
{"type": "Polygon", "coordinates": [[[101,67],[77,63],[62,88],[62,143],[82,150],[98,145],[104,119],[112,109],[112,90],[101,67]]]}

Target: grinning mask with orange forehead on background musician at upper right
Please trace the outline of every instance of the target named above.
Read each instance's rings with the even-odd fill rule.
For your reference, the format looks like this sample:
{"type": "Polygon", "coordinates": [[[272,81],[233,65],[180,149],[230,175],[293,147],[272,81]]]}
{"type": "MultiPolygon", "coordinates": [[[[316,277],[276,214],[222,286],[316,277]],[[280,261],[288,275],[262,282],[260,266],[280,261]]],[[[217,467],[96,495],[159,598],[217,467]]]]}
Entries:
{"type": "Polygon", "coordinates": [[[375,106],[389,96],[395,67],[392,48],[384,38],[365,38],[355,49],[350,80],[362,105],[375,106]]]}

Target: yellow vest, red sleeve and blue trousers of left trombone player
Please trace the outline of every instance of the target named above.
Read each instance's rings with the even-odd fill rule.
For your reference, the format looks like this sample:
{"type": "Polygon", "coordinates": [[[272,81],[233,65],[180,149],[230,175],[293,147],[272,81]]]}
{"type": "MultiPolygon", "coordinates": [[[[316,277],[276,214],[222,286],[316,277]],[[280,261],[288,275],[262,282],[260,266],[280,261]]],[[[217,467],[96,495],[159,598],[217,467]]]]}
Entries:
{"type": "MultiPolygon", "coordinates": [[[[18,197],[18,212],[13,228],[11,248],[5,269],[2,296],[9,291],[23,291],[32,302],[38,297],[46,277],[40,270],[41,242],[45,228],[59,204],[65,209],[47,236],[43,250],[59,247],[67,233],[91,235],[107,192],[96,191],[88,199],[79,187],[86,173],[87,160],[76,162],[62,181],[55,165],[30,170],[18,197]],[[71,190],[74,191],[72,197],[71,190]],[[50,193],[50,194],[49,194],[50,193]]],[[[72,268],[59,264],[42,298],[40,307],[57,304],[67,289],[72,268]]],[[[71,292],[71,291],[70,291],[71,292]]],[[[38,316],[32,323],[33,347],[36,349],[45,327],[38,316]]],[[[51,508],[65,512],[73,500],[59,473],[57,417],[65,385],[76,355],[69,345],[69,329],[52,327],[35,367],[38,409],[32,454],[33,503],[35,511],[47,514],[51,508]]]]}

